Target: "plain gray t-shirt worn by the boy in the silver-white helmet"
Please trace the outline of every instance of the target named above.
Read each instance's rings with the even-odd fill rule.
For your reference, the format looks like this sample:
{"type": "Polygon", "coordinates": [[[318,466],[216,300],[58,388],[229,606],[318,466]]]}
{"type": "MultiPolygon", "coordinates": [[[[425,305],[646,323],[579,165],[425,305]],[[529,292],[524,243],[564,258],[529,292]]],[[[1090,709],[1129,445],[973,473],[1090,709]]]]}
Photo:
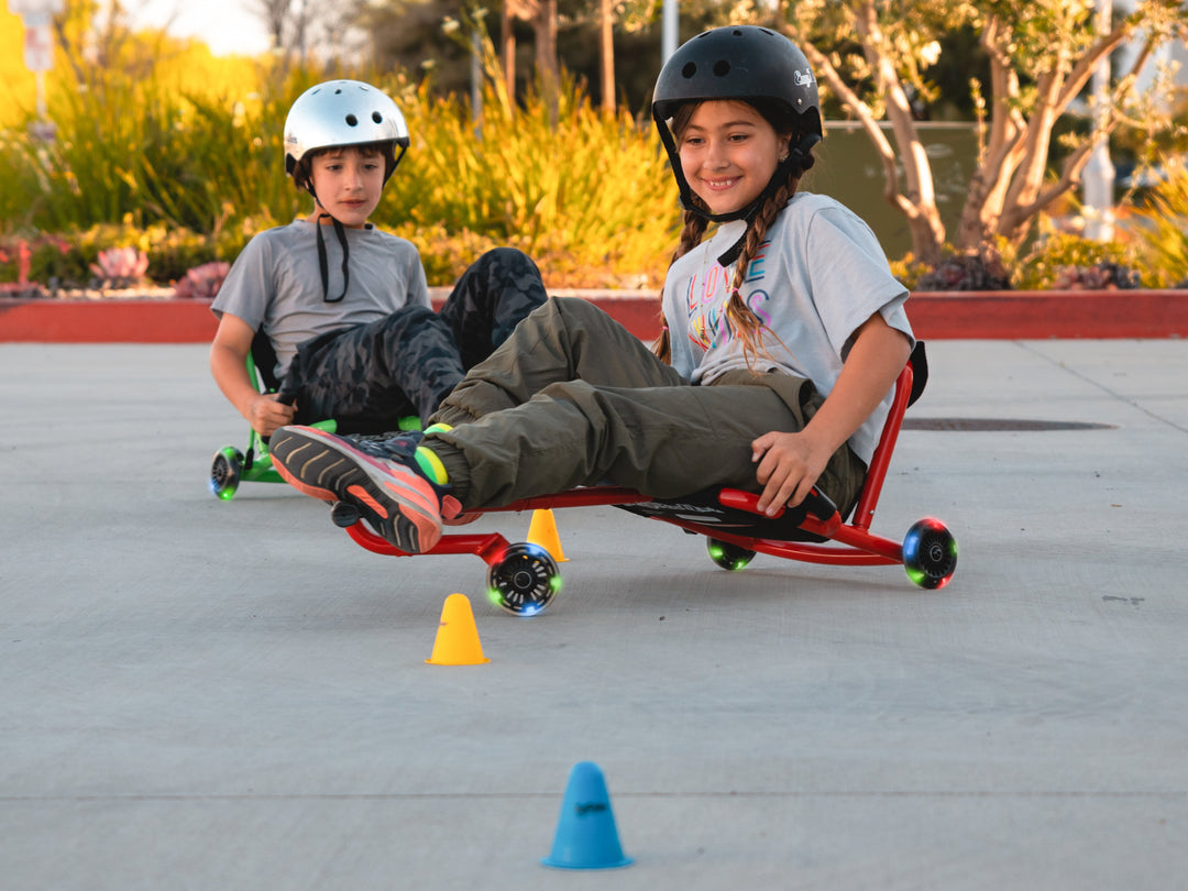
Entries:
{"type": "MultiPolygon", "coordinates": [[[[329,295],[342,293],[342,246],[333,226],[322,227],[329,295]]],[[[350,286],[337,303],[322,293],[317,223],[295,220],[259,233],[236,258],[210,308],[230,312],[253,330],[263,327],[284,377],[297,345],[339,328],[374,322],[403,307],[429,307],[421,254],[412,242],[369,227],[346,229],[350,286]]]]}

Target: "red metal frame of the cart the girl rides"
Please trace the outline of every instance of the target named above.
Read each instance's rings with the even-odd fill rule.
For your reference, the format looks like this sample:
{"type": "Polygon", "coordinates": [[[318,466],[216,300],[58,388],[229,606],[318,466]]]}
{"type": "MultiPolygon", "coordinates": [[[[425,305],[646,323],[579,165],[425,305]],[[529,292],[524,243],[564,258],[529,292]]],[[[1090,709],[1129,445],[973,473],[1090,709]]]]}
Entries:
{"type": "MultiPolygon", "coordinates": [[[[903,416],[908,410],[911,384],[912,369],[911,365],[906,365],[896,380],[891,410],[883,425],[879,443],[871,457],[870,469],[867,470],[866,481],[858,499],[858,506],[854,508],[853,520],[851,523],[842,523],[841,517],[834,513],[824,520],[809,514],[801,523],[800,527],[805,532],[826,538],[828,539],[827,542],[786,542],[752,538],[742,535],[733,535],[713,525],[704,525],[691,520],[668,517],[657,517],[656,519],[697,535],[704,535],[727,544],[756,551],[757,554],[770,554],[776,557],[786,557],[808,563],[828,563],[833,565],[889,565],[902,563],[902,543],[873,535],[870,527],[874,519],[874,508],[878,506],[879,495],[883,492],[883,482],[886,479],[887,467],[891,463],[891,454],[895,451],[896,441],[899,438],[903,416]]],[[[526,498],[505,507],[484,510],[482,513],[495,511],[533,511],[554,507],[590,507],[595,505],[630,505],[651,500],[653,499],[630,488],[590,486],[570,489],[556,495],[526,498]]],[[[756,510],[759,497],[753,493],[727,488],[719,493],[719,500],[726,507],[759,514],[756,510]]],[[[372,532],[362,523],[348,526],[347,533],[360,546],[375,554],[409,556],[405,551],[399,550],[372,532]]],[[[432,550],[424,551],[424,554],[474,554],[481,557],[488,565],[492,565],[498,562],[500,555],[508,548],[508,544],[507,539],[498,532],[447,532],[432,550]]]]}

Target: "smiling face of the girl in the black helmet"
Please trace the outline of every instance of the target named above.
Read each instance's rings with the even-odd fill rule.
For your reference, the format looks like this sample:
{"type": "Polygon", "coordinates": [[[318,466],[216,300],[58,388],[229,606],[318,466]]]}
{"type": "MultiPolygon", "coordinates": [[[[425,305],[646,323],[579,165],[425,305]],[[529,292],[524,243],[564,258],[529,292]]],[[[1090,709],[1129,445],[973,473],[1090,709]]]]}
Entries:
{"type": "Polygon", "coordinates": [[[741,210],[759,197],[788,143],[752,106],[720,99],[699,105],[677,134],[684,178],[712,214],[741,210]]]}

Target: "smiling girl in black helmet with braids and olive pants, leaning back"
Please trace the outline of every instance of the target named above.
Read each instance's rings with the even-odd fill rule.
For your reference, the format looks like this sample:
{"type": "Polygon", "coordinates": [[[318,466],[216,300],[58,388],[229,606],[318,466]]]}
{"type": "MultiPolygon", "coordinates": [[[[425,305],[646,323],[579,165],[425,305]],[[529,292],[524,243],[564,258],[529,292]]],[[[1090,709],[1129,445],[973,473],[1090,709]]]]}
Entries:
{"type": "Polygon", "coordinates": [[[745,488],[769,514],[819,486],[848,514],[914,337],[870,228],[797,191],[822,135],[808,61],[766,29],[707,31],[664,65],[652,112],[684,207],[657,352],[552,298],[419,443],[282,428],[272,457],[293,486],[353,504],[407,552],[443,517],[601,481],[745,488]]]}

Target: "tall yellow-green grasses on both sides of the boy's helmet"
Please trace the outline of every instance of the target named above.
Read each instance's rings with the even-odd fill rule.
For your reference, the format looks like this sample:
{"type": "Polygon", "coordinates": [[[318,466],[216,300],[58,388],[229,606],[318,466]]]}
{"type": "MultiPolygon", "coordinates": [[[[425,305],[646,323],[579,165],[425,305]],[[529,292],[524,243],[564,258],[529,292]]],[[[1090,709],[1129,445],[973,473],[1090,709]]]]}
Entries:
{"type": "MultiPolygon", "coordinates": [[[[234,62],[228,84],[204,52],[183,45],[143,76],[126,58],[88,70],[82,89],[52,90],[51,143],[0,131],[0,233],[69,238],[114,223],[211,240],[150,251],[148,274],[163,282],[184,273],[179,257],[232,260],[245,238],[308,213],[284,172],[282,131],[297,95],[334,75],[279,77],[234,62]],[[182,59],[210,69],[204,84],[173,64],[182,59]]],[[[475,121],[468,102],[399,75],[352,76],[392,93],[409,121],[412,145],[373,220],[421,247],[432,284],[451,283],[482,249],[514,245],[552,286],[658,285],[680,215],[650,124],[602,115],[568,78],[554,118],[539,96],[513,106],[491,77],[475,121]]]]}

